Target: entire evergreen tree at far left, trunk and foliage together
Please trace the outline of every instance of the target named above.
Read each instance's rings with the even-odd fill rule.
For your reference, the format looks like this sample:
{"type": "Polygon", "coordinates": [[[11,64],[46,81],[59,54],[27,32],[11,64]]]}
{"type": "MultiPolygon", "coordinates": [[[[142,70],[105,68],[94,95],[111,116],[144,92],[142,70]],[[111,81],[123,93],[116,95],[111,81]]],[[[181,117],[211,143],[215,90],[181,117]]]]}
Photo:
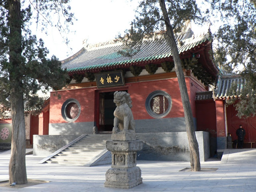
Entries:
{"type": "Polygon", "coordinates": [[[35,18],[42,30],[50,25],[65,33],[66,24],[72,24],[73,20],[68,3],[68,0],[0,0],[0,108],[12,111],[10,183],[27,182],[24,100],[31,105],[38,104],[38,90],[60,89],[68,79],[58,59],[47,57],[49,52],[43,40],[32,35],[31,19],[35,18]],[[55,16],[58,19],[52,19],[51,13],[63,15],[64,20],[55,16]]]}

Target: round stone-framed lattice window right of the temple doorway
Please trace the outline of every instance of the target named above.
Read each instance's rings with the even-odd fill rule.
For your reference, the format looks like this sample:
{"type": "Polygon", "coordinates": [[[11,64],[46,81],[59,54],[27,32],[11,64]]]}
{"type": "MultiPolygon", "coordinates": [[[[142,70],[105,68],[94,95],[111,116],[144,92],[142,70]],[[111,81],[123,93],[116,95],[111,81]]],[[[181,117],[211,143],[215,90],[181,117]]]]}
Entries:
{"type": "Polygon", "coordinates": [[[162,118],[170,112],[172,99],[168,93],[157,90],[148,95],[145,106],[150,116],[162,118]]]}

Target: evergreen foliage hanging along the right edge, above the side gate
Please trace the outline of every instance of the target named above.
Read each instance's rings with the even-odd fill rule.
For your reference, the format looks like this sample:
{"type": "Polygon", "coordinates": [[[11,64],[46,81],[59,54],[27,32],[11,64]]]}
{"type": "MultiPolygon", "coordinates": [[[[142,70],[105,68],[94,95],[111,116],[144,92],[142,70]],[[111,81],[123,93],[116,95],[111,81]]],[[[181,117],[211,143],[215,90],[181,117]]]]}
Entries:
{"type": "Polygon", "coordinates": [[[215,63],[224,72],[241,73],[246,79],[242,92],[232,90],[234,96],[227,104],[234,104],[238,116],[256,114],[256,1],[207,0],[212,23],[220,24],[214,34],[217,42],[215,63]]]}

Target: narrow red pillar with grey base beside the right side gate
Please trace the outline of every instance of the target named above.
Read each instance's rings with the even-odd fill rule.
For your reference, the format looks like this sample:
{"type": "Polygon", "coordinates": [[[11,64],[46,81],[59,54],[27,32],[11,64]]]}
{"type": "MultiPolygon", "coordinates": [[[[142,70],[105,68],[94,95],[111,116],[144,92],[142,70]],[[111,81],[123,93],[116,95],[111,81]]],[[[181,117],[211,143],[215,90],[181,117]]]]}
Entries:
{"type": "Polygon", "coordinates": [[[225,126],[225,102],[216,100],[216,131],[217,131],[217,152],[227,148],[226,126],[225,126]]]}

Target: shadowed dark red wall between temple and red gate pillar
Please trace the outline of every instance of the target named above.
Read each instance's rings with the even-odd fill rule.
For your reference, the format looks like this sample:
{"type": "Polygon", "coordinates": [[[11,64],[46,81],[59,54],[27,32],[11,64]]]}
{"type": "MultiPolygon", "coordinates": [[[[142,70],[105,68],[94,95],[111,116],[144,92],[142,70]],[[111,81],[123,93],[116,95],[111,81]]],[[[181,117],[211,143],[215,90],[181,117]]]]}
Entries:
{"type": "Polygon", "coordinates": [[[198,131],[207,131],[211,137],[217,137],[214,100],[196,102],[196,123],[198,131]]]}

